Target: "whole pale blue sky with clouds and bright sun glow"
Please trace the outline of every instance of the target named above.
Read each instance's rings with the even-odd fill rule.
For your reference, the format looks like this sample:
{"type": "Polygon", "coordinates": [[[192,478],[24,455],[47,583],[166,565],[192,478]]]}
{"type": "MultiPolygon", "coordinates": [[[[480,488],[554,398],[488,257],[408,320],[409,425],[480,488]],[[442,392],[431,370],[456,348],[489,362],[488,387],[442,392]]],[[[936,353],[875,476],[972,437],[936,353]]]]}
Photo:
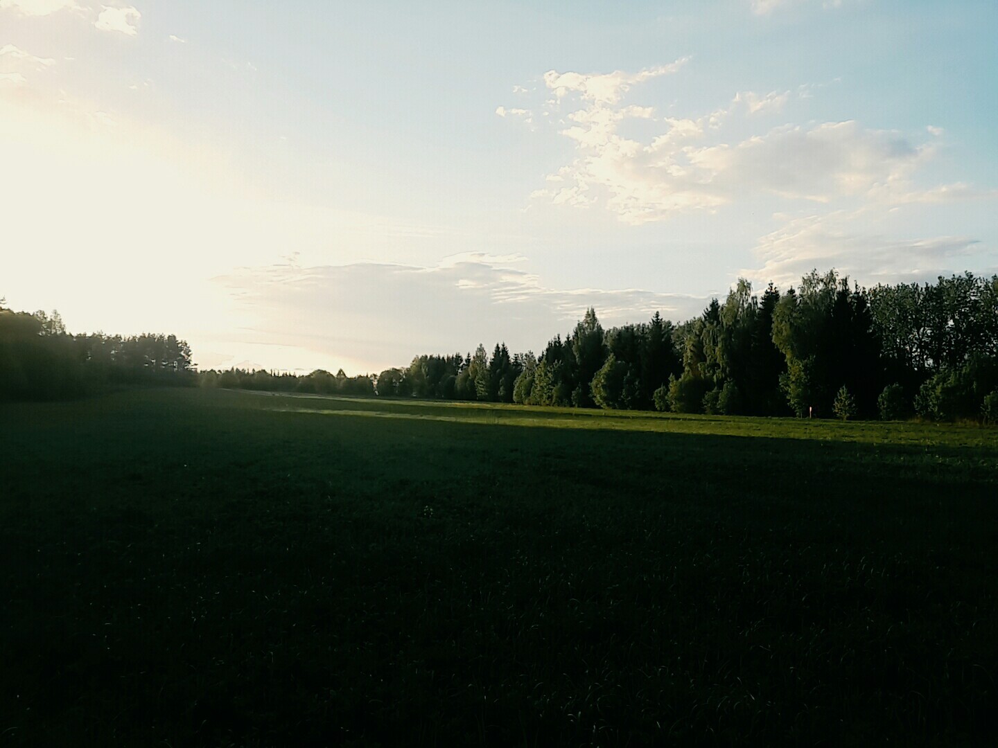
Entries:
{"type": "Polygon", "coordinates": [[[998,272],[998,3],[0,0],[0,298],[348,374],[998,272]]]}

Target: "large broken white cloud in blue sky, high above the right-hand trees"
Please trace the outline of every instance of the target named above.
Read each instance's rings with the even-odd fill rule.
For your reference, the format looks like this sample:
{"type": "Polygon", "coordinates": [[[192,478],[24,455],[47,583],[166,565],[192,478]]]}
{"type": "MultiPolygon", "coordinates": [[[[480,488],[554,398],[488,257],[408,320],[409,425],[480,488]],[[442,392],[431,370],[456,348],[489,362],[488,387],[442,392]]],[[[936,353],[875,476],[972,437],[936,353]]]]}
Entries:
{"type": "MultiPolygon", "coordinates": [[[[746,128],[747,118],[781,110],[790,91],[739,92],[727,109],[685,118],[659,119],[651,107],[622,101],[631,87],[678,70],[683,62],[636,74],[546,74],[555,106],[570,95],[581,106],[559,121],[560,135],[574,142],[576,153],[557,171],[557,185],[535,189],[531,197],[558,205],[599,202],[637,224],[764,194],[819,202],[866,197],[887,204],[969,196],[959,186],[916,188],[913,177],[932,158],[933,147],[853,121],[787,124],[735,143],[719,142],[727,124],[737,120],[746,128]],[[635,120],[661,129],[641,140],[624,137],[622,125],[635,120]]],[[[497,110],[500,116],[512,112],[497,110]]]]}

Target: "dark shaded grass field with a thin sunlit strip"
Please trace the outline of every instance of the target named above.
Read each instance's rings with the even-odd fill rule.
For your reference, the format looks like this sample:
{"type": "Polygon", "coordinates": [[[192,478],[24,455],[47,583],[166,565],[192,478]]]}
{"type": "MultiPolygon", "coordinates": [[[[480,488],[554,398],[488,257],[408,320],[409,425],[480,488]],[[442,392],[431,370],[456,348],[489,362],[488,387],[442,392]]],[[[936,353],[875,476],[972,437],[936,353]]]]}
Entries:
{"type": "Polygon", "coordinates": [[[0,406],[0,744],[986,745],[998,430],[0,406]]]}

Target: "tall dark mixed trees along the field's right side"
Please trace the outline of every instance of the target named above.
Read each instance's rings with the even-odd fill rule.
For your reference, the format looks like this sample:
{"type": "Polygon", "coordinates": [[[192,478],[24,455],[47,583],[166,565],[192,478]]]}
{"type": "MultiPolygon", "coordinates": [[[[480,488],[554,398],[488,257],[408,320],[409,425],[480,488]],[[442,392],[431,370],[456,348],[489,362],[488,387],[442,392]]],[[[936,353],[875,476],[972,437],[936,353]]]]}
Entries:
{"type": "Polygon", "coordinates": [[[849,284],[816,270],[761,296],[740,279],[681,325],[604,330],[594,309],[544,351],[419,356],[377,394],[755,416],[998,421],[998,277],[849,284]]]}

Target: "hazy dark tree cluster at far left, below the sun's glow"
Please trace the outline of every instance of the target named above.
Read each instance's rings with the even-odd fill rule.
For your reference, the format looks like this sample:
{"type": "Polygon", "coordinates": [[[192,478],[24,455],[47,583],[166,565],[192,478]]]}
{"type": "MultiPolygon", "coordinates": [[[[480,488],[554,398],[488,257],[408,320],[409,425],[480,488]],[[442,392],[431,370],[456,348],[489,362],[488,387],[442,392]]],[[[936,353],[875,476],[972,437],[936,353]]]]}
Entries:
{"type": "Polygon", "coordinates": [[[191,385],[176,335],[72,335],[58,312],[0,306],[0,400],[56,400],[120,385],[191,385]]]}

